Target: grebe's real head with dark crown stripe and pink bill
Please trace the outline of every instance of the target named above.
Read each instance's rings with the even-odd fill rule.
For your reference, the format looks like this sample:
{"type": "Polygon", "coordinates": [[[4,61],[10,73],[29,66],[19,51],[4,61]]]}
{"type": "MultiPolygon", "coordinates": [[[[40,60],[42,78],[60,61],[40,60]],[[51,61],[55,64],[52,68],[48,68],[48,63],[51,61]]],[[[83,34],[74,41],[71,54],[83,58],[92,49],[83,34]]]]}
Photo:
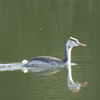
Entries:
{"type": "Polygon", "coordinates": [[[80,43],[77,39],[70,37],[67,41],[67,45],[69,48],[73,47],[73,46],[86,46],[83,43],[80,43]]]}

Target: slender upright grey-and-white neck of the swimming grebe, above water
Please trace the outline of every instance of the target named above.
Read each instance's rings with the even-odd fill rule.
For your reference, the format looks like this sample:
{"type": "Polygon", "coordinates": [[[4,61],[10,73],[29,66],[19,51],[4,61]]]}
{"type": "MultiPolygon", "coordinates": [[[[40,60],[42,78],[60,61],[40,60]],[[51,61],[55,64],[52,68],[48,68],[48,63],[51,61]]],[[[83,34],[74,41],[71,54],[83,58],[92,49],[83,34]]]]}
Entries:
{"type": "Polygon", "coordinates": [[[65,47],[65,58],[63,60],[65,65],[71,63],[71,50],[72,50],[72,47],[70,47],[68,44],[66,44],[66,47],[65,47]]]}

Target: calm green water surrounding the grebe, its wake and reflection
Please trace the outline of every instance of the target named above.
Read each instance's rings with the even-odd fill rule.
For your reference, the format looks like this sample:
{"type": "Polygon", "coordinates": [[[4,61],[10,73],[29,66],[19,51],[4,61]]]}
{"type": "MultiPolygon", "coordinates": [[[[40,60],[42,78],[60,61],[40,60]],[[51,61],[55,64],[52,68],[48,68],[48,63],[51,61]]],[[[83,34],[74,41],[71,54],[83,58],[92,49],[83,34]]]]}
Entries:
{"type": "Polygon", "coordinates": [[[63,70],[47,76],[1,71],[0,100],[100,100],[100,0],[0,0],[0,63],[63,59],[70,36],[87,45],[72,51],[73,79],[87,87],[71,93],[63,70]]]}

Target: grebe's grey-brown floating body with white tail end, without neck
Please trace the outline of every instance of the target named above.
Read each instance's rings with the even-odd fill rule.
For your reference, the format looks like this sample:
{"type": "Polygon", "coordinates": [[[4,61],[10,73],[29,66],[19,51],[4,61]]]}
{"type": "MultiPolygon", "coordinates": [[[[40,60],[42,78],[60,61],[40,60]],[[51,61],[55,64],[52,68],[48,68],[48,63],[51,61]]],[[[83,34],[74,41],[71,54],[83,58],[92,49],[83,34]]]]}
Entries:
{"type": "MultiPolygon", "coordinates": [[[[25,61],[25,60],[24,60],[25,61]]],[[[30,60],[26,60],[27,63],[23,63],[22,64],[24,66],[29,66],[29,67],[51,67],[51,66],[63,66],[64,62],[58,58],[55,57],[50,57],[50,56],[38,56],[38,57],[34,57],[30,60]]]]}

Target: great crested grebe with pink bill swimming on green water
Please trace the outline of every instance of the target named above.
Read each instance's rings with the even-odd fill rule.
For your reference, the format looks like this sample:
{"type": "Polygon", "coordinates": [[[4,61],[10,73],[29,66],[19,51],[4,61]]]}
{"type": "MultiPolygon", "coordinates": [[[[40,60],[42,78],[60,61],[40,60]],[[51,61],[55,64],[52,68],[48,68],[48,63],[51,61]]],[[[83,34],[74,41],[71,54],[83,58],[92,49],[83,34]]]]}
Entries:
{"type": "Polygon", "coordinates": [[[21,63],[26,67],[50,67],[50,66],[64,66],[71,63],[71,50],[74,46],[86,46],[80,43],[77,39],[70,37],[65,46],[65,58],[60,60],[50,56],[38,56],[30,60],[23,60],[21,63]]]}

